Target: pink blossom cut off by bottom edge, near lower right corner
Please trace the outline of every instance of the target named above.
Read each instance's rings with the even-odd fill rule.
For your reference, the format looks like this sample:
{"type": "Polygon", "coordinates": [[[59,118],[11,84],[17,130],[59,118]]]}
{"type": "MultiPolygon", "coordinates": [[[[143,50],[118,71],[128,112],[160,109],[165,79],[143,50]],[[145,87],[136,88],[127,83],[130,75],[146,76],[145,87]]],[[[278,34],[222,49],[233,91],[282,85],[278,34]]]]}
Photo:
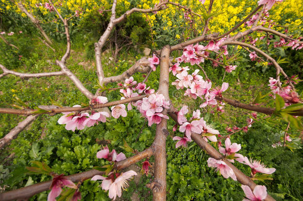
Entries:
{"type": "Polygon", "coordinates": [[[241,185],[245,196],[247,199],[243,199],[243,201],[263,201],[266,199],[267,192],[265,186],[257,185],[255,186],[253,192],[249,188],[249,186],[241,185]]]}

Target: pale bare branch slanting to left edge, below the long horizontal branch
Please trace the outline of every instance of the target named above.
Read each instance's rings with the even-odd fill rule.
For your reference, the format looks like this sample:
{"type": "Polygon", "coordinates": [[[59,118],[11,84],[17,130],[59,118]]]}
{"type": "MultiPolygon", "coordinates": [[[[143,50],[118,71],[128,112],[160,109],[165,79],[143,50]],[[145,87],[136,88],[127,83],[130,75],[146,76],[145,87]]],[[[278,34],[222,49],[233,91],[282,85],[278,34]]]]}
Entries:
{"type": "Polygon", "coordinates": [[[25,120],[20,122],[18,126],[13,128],[8,134],[0,139],[0,150],[8,144],[11,140],[15,139],[18,134],[23,131],[30,123],[37,119],[39,115],[30,115],[25,120]]]}

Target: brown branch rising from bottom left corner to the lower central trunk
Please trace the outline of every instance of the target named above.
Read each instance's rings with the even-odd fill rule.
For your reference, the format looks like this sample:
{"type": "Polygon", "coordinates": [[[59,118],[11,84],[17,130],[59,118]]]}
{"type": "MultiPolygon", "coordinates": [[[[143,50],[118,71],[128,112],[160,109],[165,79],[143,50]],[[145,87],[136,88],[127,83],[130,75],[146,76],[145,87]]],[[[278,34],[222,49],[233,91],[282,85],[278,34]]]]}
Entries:
{"type": "MultiPolygon", "coordinates": [[[[152,155],[152,150],[151,150],[151,147],[149,147],[149,148],[145,149],[144,151],[142,151],[132,157],[129,157],[125,160],[117,162],[115,167],[118,170],[122,170],[146,157],[150,157],[151,155],[152,155]]],[[[84,181],[84,180],[90,179],[95,175],[103,175],[103,174],[104,174],[104,172],[101,172],[98,170],[89,170],[86,172],[66,176],[66,178],[73,181],[74,183],[76,183],[79,181],[84,181]]],[[[12,201],[12,200],[30,198],[30,197],[34,196],[35,194],[49,190],[51,184],[52,184],[52,180],[49,180],[46,182],[41,182],[38,184],[23,187],[21,189],[16,189],[16,190],[8,191],[5,193],[1,193],[0,200],[1,201],[12,201]]]]}

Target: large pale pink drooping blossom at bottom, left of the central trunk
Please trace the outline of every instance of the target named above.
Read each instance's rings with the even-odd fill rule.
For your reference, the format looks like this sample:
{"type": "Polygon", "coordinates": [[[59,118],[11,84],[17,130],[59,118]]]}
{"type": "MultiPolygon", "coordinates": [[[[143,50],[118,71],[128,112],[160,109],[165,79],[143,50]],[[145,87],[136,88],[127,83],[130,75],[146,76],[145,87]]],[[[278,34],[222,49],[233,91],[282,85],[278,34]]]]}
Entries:
{"type": "Polygon", "coordinates": [[[108,178],[102,177],[100,175],[95,175],[91,178],[92,181],[96,180],[103,180],[102,181],[102,189],[108,192],[108,196],[110,199],[115,200],[118,196],[119,198],[122,195],[122,190],[125,190],[128,186],[127,180],[133,178],[134,175],[137,175],[137,173],[133,170],[123,172],[123,173],[116,173],[116,174],[110,174],[108,178]]]}

